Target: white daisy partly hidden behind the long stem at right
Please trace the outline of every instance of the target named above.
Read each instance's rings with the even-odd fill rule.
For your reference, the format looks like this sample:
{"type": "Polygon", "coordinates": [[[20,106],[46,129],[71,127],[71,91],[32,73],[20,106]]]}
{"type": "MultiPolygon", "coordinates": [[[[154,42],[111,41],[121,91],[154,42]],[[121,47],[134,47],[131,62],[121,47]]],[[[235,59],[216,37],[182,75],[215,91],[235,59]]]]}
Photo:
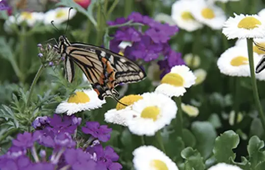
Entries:
{"type": "MultiPolygon", "coordinates": [[[[253,53],[254,63],[257,64],[259,56],[253,53]]],[[[249,61],[247,48],[242,46],[234,46],[228,48],[221,54],[217,61],[217,66],[221,73],[229,76],[249,77],[249,61]]]]}

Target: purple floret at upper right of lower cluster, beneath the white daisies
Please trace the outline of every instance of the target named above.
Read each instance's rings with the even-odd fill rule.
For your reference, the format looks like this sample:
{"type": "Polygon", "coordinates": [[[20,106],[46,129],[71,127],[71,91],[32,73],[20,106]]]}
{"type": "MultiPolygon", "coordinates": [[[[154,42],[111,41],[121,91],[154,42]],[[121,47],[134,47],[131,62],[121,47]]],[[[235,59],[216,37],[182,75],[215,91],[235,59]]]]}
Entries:
{"type": "Polygon", "coordinates": [[[91,134],[100,141],[108,141],[111,138],[111,128],[107,125],[99,125],[98,122],[87,122],[86,127],[82,127],[82,131],[86,134],[91,134]]]}

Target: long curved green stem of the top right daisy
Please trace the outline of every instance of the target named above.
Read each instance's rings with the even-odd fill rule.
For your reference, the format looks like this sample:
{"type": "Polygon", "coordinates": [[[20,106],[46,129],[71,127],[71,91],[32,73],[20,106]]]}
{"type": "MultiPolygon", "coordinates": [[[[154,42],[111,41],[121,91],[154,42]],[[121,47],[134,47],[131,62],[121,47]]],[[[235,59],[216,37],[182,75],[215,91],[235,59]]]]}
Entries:
{"type": "Polygon", "coordinates": [[[258,110],[258,114],[261,119],[262,127],[265,130],[265,116],[263,115],[262,107],[259,101],[258,88],[257,88],[256,77],[255,77],[255,72],[254,72],[253,43],[252,42],[253,42],[253,38],[247,39],[252,90],[253,90],[254,101],[255,101],[255,104],[258,110]]]}

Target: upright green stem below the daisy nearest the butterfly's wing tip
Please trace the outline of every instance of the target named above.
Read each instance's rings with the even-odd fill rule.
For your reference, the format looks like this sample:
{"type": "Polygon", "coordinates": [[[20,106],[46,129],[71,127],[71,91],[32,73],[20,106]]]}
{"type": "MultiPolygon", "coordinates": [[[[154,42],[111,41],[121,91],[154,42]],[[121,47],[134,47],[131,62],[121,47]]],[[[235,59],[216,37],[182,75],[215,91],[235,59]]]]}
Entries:
{"type": "Polygon", "coordinates": [[[181,109],[181,97],[176,98],[176,103],[177,103],[177,117],[176,117],[176,132],[177,135],[182,137],[183,136],[183,116],[182,116],[182,109],[181,109]]]}

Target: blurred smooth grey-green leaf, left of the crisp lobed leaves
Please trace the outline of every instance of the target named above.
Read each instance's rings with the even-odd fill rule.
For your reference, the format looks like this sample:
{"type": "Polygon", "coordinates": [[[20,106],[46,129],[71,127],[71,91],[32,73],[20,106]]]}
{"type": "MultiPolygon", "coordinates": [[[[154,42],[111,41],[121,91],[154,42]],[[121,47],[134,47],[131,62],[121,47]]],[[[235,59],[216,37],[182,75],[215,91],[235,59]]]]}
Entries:
{"type": "Polygon", "coordinates": [[[194,122],[191,130],[196,137],[196,149],[204,159],[207,159],[213,151],[217,133],[213,125],[209,122],[194,122]]]}

